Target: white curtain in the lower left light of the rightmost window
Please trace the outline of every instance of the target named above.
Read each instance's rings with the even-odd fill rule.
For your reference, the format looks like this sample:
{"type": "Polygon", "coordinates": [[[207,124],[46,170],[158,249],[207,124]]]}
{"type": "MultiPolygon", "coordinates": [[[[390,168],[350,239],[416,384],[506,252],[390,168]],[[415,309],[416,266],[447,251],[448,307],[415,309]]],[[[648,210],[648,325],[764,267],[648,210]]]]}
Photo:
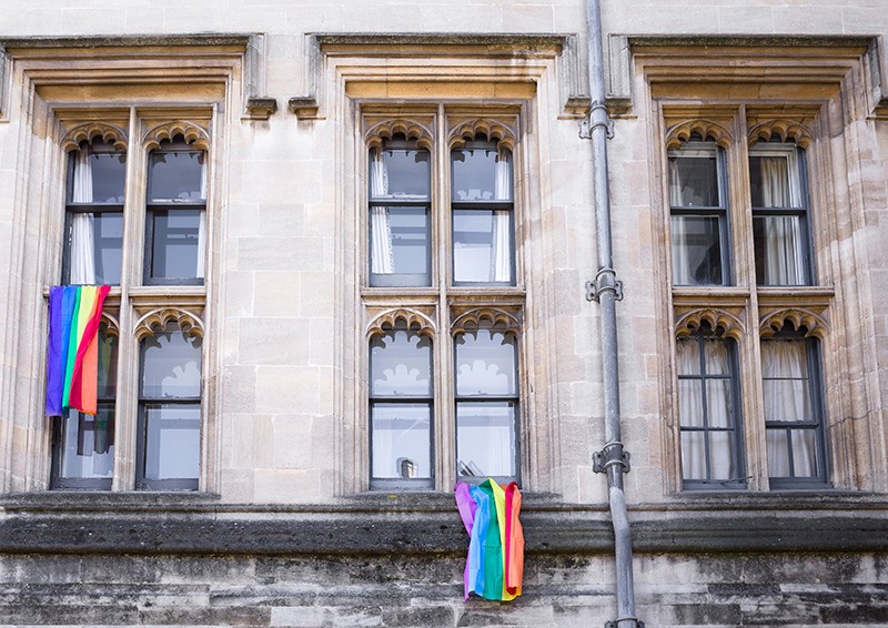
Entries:
{"type": "MultiPolygon", "coordinates": [[[[700,373],[699,344],[696,337],[676,342],[679,375],[700,373]]],[[[704,341],[707,375],[730,373],[728,347],[724,341],[704,341]]],[[[682,432],[682,472],[685,479],[733,479],[737,473],[734,465],[733,429],[730,428],[730,387],[726,379],[679,379],[678,417],[682,427],[709,427],[707,432],[682,432]],[[706,389],[703,389],[706,382],[706,389]],[[704,423],[703,398],[706,395],[708,425],[704,423]],[[706,472],[706,444],[709,439],[709,473],[706,472]]]]}

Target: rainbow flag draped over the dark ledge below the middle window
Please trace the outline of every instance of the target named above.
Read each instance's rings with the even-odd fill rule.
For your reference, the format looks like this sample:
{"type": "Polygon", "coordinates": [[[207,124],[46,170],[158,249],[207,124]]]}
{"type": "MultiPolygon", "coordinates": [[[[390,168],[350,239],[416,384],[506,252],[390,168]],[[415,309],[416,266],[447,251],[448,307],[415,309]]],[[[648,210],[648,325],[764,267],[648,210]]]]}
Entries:
{"type": "Polygon", "coordinates": [[[521,595],[524,577],[524,531],[518,520],[518,485],[456,483],[456,506],[468,533],[465,561],[465,599],[511,600],[521,595]]]}

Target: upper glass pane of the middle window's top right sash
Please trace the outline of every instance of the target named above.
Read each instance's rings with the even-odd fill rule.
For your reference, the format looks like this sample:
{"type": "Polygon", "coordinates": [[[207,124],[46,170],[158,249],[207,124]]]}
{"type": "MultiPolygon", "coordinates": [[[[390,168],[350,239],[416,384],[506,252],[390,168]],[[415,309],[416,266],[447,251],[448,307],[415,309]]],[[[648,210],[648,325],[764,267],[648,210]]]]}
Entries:
{"type": "Polygon", "coordinates": [[[451,153],[453,201],[511,201],[512,154],[495,142],[472,142],[451,153]]]}

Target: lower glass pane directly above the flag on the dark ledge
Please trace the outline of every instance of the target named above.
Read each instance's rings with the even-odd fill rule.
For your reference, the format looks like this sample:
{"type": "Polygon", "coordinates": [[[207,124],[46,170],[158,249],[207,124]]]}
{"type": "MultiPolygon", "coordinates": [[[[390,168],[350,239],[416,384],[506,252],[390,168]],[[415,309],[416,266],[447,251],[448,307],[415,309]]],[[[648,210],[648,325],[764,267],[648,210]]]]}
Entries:
{"type": "Polygon", "coordinates": [[[516,409],[513,402],[456,404],[456,470],[460,475],[516,475],[516,409]]]}

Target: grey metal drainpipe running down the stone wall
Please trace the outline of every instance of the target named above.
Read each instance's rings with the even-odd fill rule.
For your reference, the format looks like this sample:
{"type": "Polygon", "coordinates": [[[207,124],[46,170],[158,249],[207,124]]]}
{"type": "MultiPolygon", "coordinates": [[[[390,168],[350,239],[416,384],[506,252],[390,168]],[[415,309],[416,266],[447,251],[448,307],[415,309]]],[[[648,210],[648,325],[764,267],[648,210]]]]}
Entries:
{"type": "Polygon", "coordinates": [[[584,121],[581,135],[592,140],[592,166],[595,184],[595,223],[598,244],[598,274],[586,284],[587,298],[601,305],[602,362],[604,385],[604,449],[593,456],[596,473],[607,474],[610,520],[614,526],[617,579],[617,619],[606,628],[644,628],[635,617],[635,587],[632,567],[632,530],[626,514],[623,474],[629,469],[629,455],[624,453],[619,428],[619,369],[617,362],[616,302],[623,298],[623,284],[616,280],[610,246],[610,195],[607,182],[607,138],[613,136],[612,122],[605,107],[604,64],[602,52],[601,0],[586,0],[586,34],[592,111],[584,121]]]}

